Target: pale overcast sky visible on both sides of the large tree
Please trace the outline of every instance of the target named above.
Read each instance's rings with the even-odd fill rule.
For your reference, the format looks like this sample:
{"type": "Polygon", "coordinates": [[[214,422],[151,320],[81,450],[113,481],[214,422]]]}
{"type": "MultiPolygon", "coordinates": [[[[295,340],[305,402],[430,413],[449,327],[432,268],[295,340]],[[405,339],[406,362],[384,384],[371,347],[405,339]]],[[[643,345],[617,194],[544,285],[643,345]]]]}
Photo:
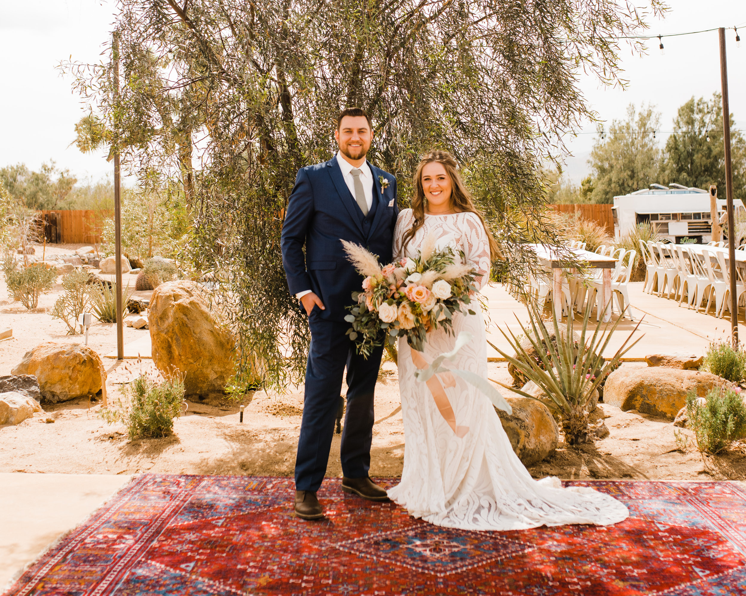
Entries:
{"type": "MultiPolygon", "coordinates": [[[[715,27],[744,25],[743,0],[669,0],[665,19],[651,22],[651,34],[676,34],[715,27]]],[[[0,55],[4,57],[4,89],[0,93],[0,166],[25,162],[38,168],[54,159],[79,179],[97,180],[113,166],[103,153],[80,153],[70,143],[74,124],[86,109],[72,95],[70,81],[55,68],[72,54],[72,60],[95,63],[101,60],[101,44],[113,22],[113,2],[102,0],[3,0],[0,3],[0,55]]],[[[733,29],[727,31],[730,110],[736,127],[746,130],[746,37],[736,48],[733,29]]],[[[742,35],[743,37],[743,35],[742,35]]],[[[692,95],[711,97],[720,90],[718,32],[710,31],[648,42],[648,55],[633,56],[626,47],[621,56],[627,90],[609,89],[592,77],[581,77],[581,86],[601,118],[624,118],[627,104],[654,104],[662,112],[665,142],[677,108],[692,95]]],[[[608,125],[606,125],[608,128],[608,125]]],[[[588,172],[586,164],[595,139],[589,125],[576,138],[567,139],[573,156],[567,159],[567,175],[574,182],[588,172]]]]}

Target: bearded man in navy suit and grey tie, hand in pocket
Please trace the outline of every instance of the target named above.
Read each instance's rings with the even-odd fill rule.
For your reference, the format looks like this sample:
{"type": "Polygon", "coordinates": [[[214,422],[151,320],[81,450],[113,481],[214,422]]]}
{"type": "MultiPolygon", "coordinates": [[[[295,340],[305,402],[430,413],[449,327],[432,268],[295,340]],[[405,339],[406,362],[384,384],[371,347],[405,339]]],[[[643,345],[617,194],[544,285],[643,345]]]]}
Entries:
{"type": "Polygon", "coordinates": [[[373,127],[366,112],[348,108],[337,118],[339,152],[328,162],[298,171],[282,231],[287,285],[303,303],[311,329],[301,436],[295,457],[295,513],[319,519],[316,498],[329,459],[334,421],[347,367],[347,411],[340,459],[342,490],[372,501],[386,491],[368,477],[373,438],[373,391],[383,347],[366,360],[346,335],[346,306],[363,276],[346,259],[342,240],[392,260],[399,212],[396,180],[366,160],[373,127]],[[303,247],[305,246],[305,253],[303,247]]]}

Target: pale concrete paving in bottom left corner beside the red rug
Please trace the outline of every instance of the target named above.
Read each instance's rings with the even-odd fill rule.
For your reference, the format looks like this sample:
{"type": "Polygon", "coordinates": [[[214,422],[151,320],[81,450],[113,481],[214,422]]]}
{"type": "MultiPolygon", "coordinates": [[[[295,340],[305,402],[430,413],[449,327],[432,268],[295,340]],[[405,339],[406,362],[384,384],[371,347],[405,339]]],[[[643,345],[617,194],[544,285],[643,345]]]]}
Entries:
{"type": "Polygon", "coordinates": [[[0,591],[130,478],[0,473],[0,591]]]}

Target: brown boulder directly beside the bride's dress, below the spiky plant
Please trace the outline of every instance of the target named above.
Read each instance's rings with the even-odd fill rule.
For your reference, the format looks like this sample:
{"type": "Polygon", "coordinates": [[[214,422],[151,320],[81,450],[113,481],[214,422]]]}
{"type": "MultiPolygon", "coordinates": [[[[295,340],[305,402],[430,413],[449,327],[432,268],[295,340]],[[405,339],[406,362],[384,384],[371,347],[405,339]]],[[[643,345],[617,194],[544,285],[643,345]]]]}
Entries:
{"type": "Polygon", "coordinates": [[[513,451],[524,466],[551,454],[560,440],[560,429],[548,408],[528,397],[507,397],[513,413],[497,411],[513,451]]]}

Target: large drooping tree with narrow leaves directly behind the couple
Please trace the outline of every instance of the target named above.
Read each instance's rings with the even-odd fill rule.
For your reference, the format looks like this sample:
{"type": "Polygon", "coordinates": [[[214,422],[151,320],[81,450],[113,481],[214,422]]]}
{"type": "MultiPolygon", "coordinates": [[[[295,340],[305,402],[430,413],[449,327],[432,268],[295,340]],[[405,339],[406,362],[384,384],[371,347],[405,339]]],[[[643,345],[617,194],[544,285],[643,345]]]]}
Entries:
{"type": "Polygon", "coordinates": [[[359,106],[370,159],[406,206],[421,153],[451,150],[498,238],[551,235],[542,159],[593,118],[586,69],[618,77],[615,38],[660,14],[612,0],[120,0],[112,63],[66,64],[93,112],[78,147],[117,147],[142,183],[181,180],[185,248],[210,271],[239,337],[239,377],[275,384],[305,367],[307,323],[280,260],[298,168],[333,155],[336,112],[359,106]],[[253,371],[252,374],[251,371],[253,371]],[[244,374],[245,373],[245,374],[244,374]]]}

